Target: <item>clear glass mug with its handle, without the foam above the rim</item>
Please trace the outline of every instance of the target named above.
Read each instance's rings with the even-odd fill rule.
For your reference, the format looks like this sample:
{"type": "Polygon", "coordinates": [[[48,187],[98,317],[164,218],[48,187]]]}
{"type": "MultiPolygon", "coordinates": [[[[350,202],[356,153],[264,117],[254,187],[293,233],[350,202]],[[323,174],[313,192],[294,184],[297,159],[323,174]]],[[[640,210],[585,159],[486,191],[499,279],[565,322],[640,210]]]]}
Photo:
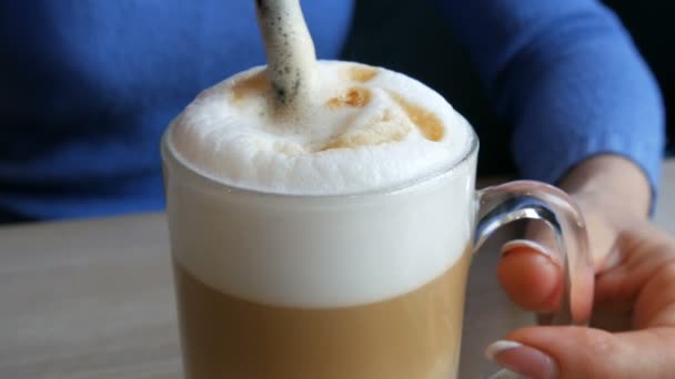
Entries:
{"type": "Polygon", "coordinates": [[[407,184],[301,196],[208,177],[172,151],[170,133],[162,158],[187,378],[455,378],[472,255],[523,218],[556,237],[566,283],[553,322],[588,319],[580,212],[537,182],[476,192],[475,135],[459,163],[407,184]]]}

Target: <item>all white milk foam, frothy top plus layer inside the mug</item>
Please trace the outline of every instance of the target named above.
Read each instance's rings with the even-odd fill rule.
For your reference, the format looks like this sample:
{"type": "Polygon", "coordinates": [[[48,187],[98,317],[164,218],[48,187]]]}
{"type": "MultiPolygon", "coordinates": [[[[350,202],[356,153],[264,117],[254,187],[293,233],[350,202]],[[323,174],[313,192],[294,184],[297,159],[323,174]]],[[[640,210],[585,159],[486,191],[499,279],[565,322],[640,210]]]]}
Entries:
{"type": "Polygon", "coordinates": [[[471,148],[471,126],[420,82],[384,69],[350,82],[354,66],[364,68],[320,62],[324,90],[314,99],[367,89],[360,107],[322,105],[304,124],[274,124],[260,93],[233,93],[258,68],[206,90],[173,122],[165,148],[182,168],[167,171],[167,195],[178,263],[233,296],[330,308],[414,290],[471,246],[475,154],[435,180],[369,194],[453,166],[471,148]],[[396,94],[435,114],[442,139],[425,137],[396,94]],[[185,167],[255,191],[172,178],[185,167]],[[353,196],[333,196],[344,194],[353,196]]]}

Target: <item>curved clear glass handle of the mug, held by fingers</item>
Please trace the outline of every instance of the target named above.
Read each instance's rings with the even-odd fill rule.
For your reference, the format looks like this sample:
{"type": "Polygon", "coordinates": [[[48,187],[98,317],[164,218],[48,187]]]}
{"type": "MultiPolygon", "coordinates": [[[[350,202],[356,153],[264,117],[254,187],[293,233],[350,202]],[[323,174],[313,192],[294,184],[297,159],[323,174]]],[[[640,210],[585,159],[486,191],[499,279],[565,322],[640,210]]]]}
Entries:
{"type": "MultiPolygon", "coordinates": [[[[584,219],[572,198],[551,185],[518,181],[478,191],[477,202],[475,250],[495,231],[514,221],[541,219],[551,227],[564,286],[558,309],[546,315],[546,319],[553,325],[587,325],[594,274],[584,219]]],[[[491,378],[511,377],[502,370],[491,378]]]]}

